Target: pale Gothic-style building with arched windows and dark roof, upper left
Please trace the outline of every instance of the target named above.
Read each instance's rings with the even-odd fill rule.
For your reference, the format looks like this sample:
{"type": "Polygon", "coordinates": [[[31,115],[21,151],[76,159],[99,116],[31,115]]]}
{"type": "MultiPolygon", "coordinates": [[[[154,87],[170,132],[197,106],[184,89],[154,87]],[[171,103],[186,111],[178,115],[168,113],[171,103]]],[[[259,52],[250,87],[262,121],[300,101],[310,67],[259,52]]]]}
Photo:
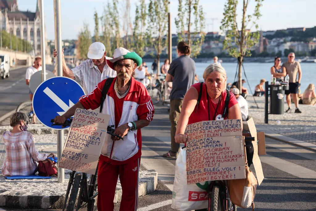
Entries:
{"type": "MultiPolygon", "coordinates": [[[[35,12],[20,11],[17,0],[0,0],[2,29],[30,42],[33,45],[35,55],[41,55],[39,7],[40,0],[37,0],[35,12]]],[[[46,37],[45,44],[46,55],[50,55],[46,37]]],[[[12,46],[12,48],[15,49],[15,46],[12,46]]]]}

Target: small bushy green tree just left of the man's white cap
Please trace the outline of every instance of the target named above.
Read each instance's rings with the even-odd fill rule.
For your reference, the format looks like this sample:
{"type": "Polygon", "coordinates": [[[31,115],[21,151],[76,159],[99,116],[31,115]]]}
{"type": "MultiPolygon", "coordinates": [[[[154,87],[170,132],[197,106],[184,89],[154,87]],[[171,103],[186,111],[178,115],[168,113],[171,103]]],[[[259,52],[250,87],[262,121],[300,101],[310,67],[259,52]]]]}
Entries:
{"type": "Polygon", "coordinates": [[[89,31],[89,25],[83,23],[83,30],[79,33],[79,59],[87,59],[87,53],[89,51],[89,46],[91,45],[91,33],[89,31]]]}

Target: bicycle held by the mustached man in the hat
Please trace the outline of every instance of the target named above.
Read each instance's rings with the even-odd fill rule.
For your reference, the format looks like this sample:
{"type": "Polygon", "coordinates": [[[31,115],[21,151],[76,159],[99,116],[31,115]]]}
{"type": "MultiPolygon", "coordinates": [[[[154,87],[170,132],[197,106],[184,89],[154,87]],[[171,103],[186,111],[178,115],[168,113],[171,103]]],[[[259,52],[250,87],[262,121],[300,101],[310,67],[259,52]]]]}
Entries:
{"type": "MultiPolygon", "coordinates": [[[[64,124],[54,123],[53,119],[51,120],[51,122],[53,123],[52,126],[59,125],[59,126],[67,127],[71,125],[72,120],[73,120],[72,118],[69,118],[65,121],[64,124]]],[[[114,125],[108,125],[106,133],[124,140],[119,135],[114,134],[113,127],[114,125]]],[[[67,211],[74,211],[74,209],[78,211],[80,208],[86,205],[87,205],[88,211],[97,210],[96,201],[97,201],[97,196],[98,196],[98,176],[97,176],[98,167],[99,167],[99,162],[95,170],[95,173],[90,175],[89,181],[88,181],[87,173],[82,172],[81,174],[81,173],[76,173],[76,171],[72,171],[70,173],[70,179],[69,179],[69,183],[67,187],[67,192],[65,195],[63,211],[65,210],[66,207],[67,207],[67,211]],[[72,189],[71,189],[71,186],[72,186],[72,189]],[[70,193],[70,189],[71,189],[71,193],[70,193]],[[79,194],[78,194],[78,191],[79,191],[79,194]],[[68,197],[69,197],[69,200],[68,200],[68,197]]]]}

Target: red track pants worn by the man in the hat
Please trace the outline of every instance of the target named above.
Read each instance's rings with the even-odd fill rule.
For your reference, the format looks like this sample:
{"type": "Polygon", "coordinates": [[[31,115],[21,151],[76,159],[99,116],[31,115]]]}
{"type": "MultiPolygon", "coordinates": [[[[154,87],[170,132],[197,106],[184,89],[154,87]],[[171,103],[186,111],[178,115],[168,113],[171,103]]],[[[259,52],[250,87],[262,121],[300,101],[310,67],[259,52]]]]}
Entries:
{"type": "Polygon", "coordinates": [[[137,210],[139,164],[140,158],[122,165],[112,165],[100,159],[98,170],[99,211],[113,211],[113,201],[118,177],[123,191],[119,210],[137,210]]]}

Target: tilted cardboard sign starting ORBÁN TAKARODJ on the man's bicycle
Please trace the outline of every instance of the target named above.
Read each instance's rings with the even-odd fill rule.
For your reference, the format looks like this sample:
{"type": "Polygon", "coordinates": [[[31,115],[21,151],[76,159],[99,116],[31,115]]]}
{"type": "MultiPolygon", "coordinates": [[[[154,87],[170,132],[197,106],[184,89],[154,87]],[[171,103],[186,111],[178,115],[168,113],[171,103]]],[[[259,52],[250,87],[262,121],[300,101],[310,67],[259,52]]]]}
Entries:
{"type": "Polygon", "coordinates": [[[76,109],[59,167],[94,174],[110,115],[76,109]]]}

